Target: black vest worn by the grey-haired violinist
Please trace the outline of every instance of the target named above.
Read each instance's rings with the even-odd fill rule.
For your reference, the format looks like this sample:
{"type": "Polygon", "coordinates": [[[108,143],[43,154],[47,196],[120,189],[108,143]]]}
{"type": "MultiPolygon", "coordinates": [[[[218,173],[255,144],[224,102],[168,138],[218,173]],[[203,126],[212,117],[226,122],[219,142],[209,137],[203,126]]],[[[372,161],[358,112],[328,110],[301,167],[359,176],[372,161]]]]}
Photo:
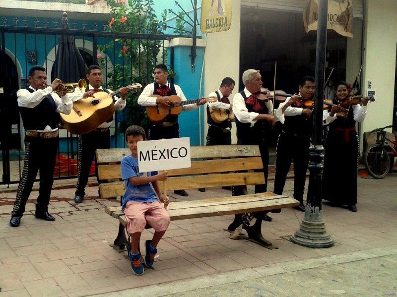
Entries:
{"type": "MultiPolygon", "coordinates": [[[[254,112],[254,110],[247,105],[247,96],[244,90],[240,92],[241,96],[244,98],[247,110],[249,113],[254,112]]],[[[256,113],[268,115],[269,110],[266,106],[256,113]]],[[[258,120],[254,126],[251,127],[251,123],[242,123],[235,117],[236,128],[237,128],[237,138],[241,144],[258,144],[265,141],[265,134],[269,129],[269,124],[267,120],[258,120]]]]}

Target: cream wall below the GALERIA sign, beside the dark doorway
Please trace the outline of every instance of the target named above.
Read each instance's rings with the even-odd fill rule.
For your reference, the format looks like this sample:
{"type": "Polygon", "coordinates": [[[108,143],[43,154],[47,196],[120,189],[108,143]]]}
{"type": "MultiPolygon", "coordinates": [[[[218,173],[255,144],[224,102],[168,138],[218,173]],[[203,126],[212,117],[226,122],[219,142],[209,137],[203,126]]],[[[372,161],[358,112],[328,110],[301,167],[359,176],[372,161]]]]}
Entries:
{"type": "MultiPolygon", "coordinates": [[[[228,31],[206,34],[207,45],[204,55],[204,95],[216,91],[222,79],[229,76],[236,82],[236,87],[229,99],[239,92],[239,63],[240,63],[240,10],[241,1],[232,1],[232,22],[228,31]]],[[[205,122],[206,122],[205,113],[205,122]]],[[[207,134],[208,125],[205,124],[203,144],[207,134]]],[[[236,125],[232,127],[232,143],[237,143],[236,125]]]]}

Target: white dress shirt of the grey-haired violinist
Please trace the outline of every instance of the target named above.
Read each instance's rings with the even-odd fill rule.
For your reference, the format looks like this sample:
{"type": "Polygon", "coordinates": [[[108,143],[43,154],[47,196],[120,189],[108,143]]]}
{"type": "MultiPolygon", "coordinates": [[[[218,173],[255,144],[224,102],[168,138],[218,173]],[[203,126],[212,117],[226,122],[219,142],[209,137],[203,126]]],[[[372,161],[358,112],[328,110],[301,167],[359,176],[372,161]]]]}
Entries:
{"type": "MultiPolygon", "coordinates": [[[[247,88],[244,88],[244,93],[248,97],[252,95],[250,91],[247,90],[247,88]]],[[[268,109],[269,115],[273,114],[273,102],[271,100],[265,102],[265,105],[268,109]]],[[[243,123],[251,123],[251,127],[254,126],[254,124],[257,122],[257,120],[254,120],[256,117],[259,116],[258,113],[255,112],[248,112],[248,109],[245,105],[245,101],[243,96],[240,93],[237,93],[233,97],[233,113],[234,116],[241,122],[243,123]]],[[[284,115],[281,111],[281,108],[278,108],[274,111],[274,117],[276,121],[280,121],[281,123],[284,123],[284,115]]]]}

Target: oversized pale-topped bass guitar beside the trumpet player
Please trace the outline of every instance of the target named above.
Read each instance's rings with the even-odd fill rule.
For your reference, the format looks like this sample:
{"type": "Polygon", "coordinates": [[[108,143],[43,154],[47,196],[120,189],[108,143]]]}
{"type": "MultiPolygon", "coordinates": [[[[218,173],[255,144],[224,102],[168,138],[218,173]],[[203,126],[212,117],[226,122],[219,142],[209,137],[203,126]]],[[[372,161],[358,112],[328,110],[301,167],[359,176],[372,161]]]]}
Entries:
{"type": "MultiPolygon", "coordinates": [[[[141,87],[141,84],[135,83],[126,88],[133,90],[141,87]]],[[[97,92],[93,97],[73,102],[70,114],[61,114],[66,130],[72,134],[84,134],[110,119],[115,113],[112,97],[118,93],[119,90],[110,94],[97,92]]]]}

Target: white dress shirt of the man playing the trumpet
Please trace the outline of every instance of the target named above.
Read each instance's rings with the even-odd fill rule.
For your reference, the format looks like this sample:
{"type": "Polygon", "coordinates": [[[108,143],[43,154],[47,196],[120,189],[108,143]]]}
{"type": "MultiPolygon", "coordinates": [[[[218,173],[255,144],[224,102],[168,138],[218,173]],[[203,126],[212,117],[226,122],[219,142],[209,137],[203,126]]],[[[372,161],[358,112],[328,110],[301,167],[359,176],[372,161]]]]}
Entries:
{"type": "MultiPolygon", "coordinates": [[[[57,93],[53,92],[52,87],[47,87],[44,90],[39,89],[36,90],[32,86],[29,86],[30,89],[34,90],[33,93],[30,93],[26,89],[20,89],[16,92],[16,96],[18,97],[17,102],[18,106],[26,107],[26,108],[35,108],[43,101],[43,99],[51,94],[51,97],[54,99],[55,105],[57,106],[57,113],[69,115],[71,109],[73,108],[73,102],[77,101],[83,96],[80,94],[74,93],[66,93],[65,96],[59,97],[57,93]]],[[[47,125],[44,130],[34,130],[37,132],[54,132],[57,131],[58,128],[52,129],[49,125],[47,125]]]]}

